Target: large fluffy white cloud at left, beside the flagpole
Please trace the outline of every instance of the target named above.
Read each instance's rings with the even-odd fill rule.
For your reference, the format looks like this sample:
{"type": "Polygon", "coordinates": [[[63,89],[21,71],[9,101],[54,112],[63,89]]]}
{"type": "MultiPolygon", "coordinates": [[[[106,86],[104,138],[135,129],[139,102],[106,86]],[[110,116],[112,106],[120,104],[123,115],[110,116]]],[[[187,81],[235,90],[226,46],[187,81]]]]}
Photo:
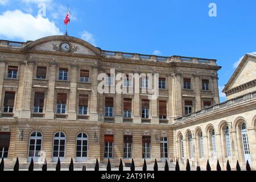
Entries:
{"type": "Polygon", "coordinates": [[[36,40],[49,35],[61,35],[54,22],[41,15],[32,16],[20,10],[6,11],[0,15],[0,36],[22,41],[36,40]]]}

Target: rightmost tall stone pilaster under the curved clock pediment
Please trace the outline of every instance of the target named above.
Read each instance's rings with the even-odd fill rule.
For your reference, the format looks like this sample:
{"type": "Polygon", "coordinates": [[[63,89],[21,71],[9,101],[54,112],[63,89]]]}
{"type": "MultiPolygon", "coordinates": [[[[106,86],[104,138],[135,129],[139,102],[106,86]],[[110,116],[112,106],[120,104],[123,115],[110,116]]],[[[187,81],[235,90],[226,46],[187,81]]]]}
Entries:
{"type": "Polygon", "coordinates": [[[91,69],[92,96],[90,97],[90,120],[98,121],[98,67],[91,69]]]}

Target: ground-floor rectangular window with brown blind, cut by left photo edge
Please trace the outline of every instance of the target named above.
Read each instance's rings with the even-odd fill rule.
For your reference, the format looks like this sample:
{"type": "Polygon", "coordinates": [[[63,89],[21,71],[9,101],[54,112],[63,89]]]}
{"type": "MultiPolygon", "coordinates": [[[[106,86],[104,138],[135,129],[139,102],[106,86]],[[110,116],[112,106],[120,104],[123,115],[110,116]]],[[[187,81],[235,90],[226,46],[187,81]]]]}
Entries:
{"type": "Polygon", "coordinates": [[[8,157],[10,137],[10,132],[0,132],[0,158],[8,157]]]}

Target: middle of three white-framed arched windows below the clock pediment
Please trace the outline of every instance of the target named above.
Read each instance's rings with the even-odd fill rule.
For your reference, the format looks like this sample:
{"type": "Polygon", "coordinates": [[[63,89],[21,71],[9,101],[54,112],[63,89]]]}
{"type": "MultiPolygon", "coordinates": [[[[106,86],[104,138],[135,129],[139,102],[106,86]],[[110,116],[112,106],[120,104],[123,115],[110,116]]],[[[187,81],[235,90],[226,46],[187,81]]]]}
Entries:
{"type": "Polygon", "coordinates": [[[58,158],[60,158],[61,162],[64,162],[65,144],[66,144],[65,134],[60,131],[55,133],[53,138],[53,154],[52,154],[53,162],[57,162],[58,158]]]}

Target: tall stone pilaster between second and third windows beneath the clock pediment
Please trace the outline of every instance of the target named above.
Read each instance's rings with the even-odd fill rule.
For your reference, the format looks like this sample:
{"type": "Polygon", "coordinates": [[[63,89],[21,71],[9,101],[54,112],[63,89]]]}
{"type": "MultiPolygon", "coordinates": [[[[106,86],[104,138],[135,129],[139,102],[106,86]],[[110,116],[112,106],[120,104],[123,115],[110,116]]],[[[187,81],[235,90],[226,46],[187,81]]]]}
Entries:
{"type": "Polygon", "coordinates": [[[77,66],[72,65],[70,69],[70,93],[68,119],[76,120],[76,89],[77,89],[77,66]]]}

